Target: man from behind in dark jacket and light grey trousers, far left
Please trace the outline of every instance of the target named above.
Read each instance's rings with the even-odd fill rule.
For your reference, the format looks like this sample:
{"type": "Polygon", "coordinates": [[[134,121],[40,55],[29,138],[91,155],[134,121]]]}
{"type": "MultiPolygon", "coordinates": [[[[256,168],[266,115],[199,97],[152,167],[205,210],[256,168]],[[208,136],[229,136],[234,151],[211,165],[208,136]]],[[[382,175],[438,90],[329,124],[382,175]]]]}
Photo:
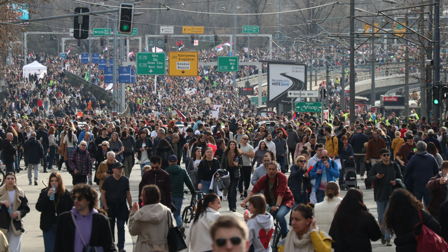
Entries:
{"type": "Polygon", "coordinates": [[[44,156],[44,148],[42,144],[36,140],[36,132],[32,132],[30,139],[23,144],[25,164],[28,164],[28,185],[33,185],[31,173],[34,169],[34,185],[37,185],[39,179],[39,163],[44,156]]]}

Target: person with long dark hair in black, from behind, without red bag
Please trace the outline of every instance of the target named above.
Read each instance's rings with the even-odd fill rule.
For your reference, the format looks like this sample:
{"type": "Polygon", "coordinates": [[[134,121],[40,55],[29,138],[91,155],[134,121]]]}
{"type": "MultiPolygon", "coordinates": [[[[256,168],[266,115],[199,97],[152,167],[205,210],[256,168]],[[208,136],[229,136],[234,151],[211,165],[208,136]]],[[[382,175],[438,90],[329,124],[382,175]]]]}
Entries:
{"type": "Polygon", "coordinates": [[[336,210],[328,232],[335,242],[335,252],[371,252],[370,241],[381,238],[378,222],[362,197],[360,190],[350,189],[336,210]]]}

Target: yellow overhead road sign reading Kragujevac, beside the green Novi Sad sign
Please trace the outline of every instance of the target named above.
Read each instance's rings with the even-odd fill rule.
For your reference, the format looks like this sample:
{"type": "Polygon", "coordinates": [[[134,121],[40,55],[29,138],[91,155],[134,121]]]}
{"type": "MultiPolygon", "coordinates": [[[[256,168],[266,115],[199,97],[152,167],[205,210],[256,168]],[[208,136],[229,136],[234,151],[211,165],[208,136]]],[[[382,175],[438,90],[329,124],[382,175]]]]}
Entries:
{"type": "Polygon", "coordinates": [[[197,51],[170,51],[168,76],[197,76],[197,51]]]}

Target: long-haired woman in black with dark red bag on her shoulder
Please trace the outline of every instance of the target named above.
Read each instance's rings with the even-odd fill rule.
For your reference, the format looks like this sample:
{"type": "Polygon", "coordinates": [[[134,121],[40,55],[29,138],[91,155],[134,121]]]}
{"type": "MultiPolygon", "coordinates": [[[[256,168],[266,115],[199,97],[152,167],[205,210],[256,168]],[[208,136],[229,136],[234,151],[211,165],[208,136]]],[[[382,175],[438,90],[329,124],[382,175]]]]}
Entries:
{"type": "Polygon", "coordinates": [[[424,210],[421,201],[405,189],[395,189],[384,214],[383,225],[396,235],[394,239],[396,252],[417,251],[414,235],[420,235],[422,225],[419,223],[421,222],[437,235],[442,235],[439,223],[424,210]]]}

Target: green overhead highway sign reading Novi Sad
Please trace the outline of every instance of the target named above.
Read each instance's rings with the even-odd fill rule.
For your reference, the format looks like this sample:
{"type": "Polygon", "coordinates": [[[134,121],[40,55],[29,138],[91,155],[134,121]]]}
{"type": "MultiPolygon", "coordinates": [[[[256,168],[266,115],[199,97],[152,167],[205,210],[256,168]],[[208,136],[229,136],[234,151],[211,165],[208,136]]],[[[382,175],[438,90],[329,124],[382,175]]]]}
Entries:
{"type": "Polygon", "coordinates": [[[137,52],[137,75],[165,75],[164,52],[137,52]]]}

